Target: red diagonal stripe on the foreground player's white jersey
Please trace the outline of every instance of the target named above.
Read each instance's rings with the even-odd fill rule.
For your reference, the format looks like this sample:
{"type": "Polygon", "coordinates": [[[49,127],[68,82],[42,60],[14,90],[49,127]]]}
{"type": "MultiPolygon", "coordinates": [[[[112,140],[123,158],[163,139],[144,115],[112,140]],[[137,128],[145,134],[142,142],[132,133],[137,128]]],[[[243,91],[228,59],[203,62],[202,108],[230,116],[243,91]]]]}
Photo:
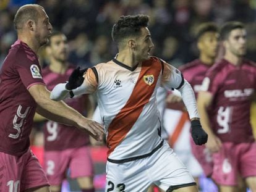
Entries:
{"type": "Polygon", "coordinates": [[[142,63],[139,78],[134,86],[134,90],[132,91],[130,98],[116,117],[114,117],[108,127],[108,156],[124,139],[139,118],[143,107],[148,103],[155,90],[160,72],[161,64],[157,58],[151,57],[151,59],[142,63]],[[143,80],[144,75],[153,75],[155,79],[153,84],[147,85],[143,80]]]}

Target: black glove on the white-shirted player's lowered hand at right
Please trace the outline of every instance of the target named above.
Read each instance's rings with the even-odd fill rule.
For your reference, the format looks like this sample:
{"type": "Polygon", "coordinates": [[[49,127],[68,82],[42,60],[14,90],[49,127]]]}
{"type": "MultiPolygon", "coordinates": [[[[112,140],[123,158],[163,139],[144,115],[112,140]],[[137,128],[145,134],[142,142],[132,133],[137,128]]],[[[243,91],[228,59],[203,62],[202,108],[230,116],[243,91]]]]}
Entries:
{"type": "Polygon", "coordinates": [[[207,143],[208,135],[203,130],[200,120],[192,120],[191,121],[191,127],[192,127],[192,138],[197,145],[202,145],[207,143]]]}

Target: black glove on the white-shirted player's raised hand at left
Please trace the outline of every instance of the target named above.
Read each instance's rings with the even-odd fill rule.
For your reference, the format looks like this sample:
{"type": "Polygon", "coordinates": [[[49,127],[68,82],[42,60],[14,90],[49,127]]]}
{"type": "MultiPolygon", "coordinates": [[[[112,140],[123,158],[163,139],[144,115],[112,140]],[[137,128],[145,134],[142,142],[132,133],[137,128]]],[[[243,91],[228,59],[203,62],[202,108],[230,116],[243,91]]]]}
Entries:
{"type": "Polygon", "coordinates": [[[80,67],[77,67],[77,69],[75,69],[69,76],[69,81],[66,84],[66,89],[74,90],[75,88],[78,88],[80,85],[82,85],[84,80],[83,73],[85,73],[87,69],[88,68],[80,70],[80,67]]]}

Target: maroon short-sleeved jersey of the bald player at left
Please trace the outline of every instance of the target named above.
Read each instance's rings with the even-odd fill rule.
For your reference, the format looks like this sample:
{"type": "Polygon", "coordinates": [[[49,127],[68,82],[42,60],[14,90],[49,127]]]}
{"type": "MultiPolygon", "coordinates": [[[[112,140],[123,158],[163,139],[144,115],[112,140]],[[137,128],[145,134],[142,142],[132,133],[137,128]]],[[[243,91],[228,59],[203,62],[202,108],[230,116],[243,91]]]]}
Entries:
{"type": "Polygon", "coordinates": [[[27,44],[16,41],[0,72],[0,151],[20,156],[27,151],[36,102],[30,86],[45,85],[38,57],[27,44]]]}

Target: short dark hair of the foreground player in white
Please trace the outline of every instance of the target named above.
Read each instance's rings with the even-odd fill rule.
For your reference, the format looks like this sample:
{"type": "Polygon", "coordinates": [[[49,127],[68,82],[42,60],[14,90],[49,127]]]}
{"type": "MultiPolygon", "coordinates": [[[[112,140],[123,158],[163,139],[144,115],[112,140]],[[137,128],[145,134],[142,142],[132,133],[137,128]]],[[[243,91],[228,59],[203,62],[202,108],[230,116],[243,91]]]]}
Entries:
{"type": "Polygon", "coordinates": [[[122,15],[112,28],[113,41],[119,44],[124,38],[137,36],[142,27],[148,27],[148,15],[122,15]]]}

